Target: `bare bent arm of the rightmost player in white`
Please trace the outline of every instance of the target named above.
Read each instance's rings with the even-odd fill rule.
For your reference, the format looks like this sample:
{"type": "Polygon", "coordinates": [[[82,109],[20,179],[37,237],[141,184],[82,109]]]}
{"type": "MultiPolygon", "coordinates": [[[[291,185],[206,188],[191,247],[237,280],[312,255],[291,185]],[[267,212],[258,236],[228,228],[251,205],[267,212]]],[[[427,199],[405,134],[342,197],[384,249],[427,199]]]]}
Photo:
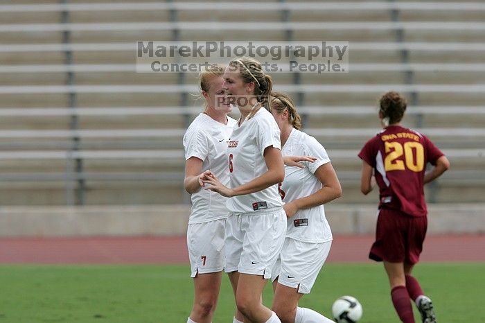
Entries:
{"type": "Polygon", "coordinates": [[[286,203],[283,208],[288,218],[294,216],[294,213],[297,213],[300,209],[317,207],[318,205],[325,204],[342,196],[342,186],[340,186],[339,179],[331,163],[321,165],[317,168],[315,177],[321,182],[321,189],[312,195],[286,203]]]}

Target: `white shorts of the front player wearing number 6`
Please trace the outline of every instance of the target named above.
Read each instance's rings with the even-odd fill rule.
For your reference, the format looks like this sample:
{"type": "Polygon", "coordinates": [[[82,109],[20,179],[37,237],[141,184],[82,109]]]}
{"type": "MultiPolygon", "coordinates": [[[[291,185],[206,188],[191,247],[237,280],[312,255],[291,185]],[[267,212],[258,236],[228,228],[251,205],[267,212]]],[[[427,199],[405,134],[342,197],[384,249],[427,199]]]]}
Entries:
{"type": "Polygon", "coordinates": [[[277,207],[248,215],[230,215],[226,222],[226,272],[271,278],[286,234],[286,214],[277,207]]]}

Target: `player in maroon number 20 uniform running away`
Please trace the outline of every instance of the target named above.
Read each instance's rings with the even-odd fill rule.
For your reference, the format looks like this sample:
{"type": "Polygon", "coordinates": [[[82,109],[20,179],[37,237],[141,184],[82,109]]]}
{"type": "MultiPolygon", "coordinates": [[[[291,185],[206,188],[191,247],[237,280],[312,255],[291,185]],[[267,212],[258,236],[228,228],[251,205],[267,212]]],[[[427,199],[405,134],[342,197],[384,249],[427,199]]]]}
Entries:
{"type": "Polygon", "coordinates": [[[443,174],[450,163],[430,139],[400,125],[406,105],[405,98],[394,91],[380,98],[379,119],[384,129],[359,153],[362,193],[372,191],[372,175],[380,193],[376,241],[369,258],[384,262],[391,299],[402,322],[414,323],[411,298],[422,322],[435,323],[431,299],[424,295],[411,272],[419,260],[427,229],[424,185],[443,174]],[[434,168],[425,173],[427,163],[434,168]]]}

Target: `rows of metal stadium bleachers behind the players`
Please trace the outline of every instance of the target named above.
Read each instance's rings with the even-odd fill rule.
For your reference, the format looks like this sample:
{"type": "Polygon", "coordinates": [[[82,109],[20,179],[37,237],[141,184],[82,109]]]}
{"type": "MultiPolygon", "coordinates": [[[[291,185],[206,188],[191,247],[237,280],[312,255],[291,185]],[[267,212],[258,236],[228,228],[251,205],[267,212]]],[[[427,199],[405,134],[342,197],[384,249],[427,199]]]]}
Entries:
{"type": "Polygon", "coordinates": [[[485,202],[484,1],[3,3],[1,205],[187,202],[182,135],[202,109],[197,78],[136,73],[135,42],[248,35],[349,41],[349,73],[273,75],[327,148],[340,203],[376,200],[360,194],[356,155],[388,90],[409,98],[405,125],[450,157],[428,199],[485,202]]]}

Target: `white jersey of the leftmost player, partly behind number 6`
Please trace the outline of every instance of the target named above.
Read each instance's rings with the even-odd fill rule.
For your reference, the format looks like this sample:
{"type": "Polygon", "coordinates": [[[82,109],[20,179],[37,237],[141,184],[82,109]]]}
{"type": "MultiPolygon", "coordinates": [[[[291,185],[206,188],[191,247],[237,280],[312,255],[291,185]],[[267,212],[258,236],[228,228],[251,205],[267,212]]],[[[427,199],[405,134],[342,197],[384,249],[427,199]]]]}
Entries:
{"type": "MultiPolygon", "coordinates": [[[[224,185],[229,185],[227,141],[236,124],[236,120],[229,116],[227,120],[227,124],[224,125],[201,113],[192,121],[184,134],[185,159],[191,157],[201,159],[204,161],[202,171],[211,170],[224,185]]],[[[197,193],[193,193],[191,199],[189,224],[227,218],[229,214],[226,207],[227,198],[219,193],[202,188],[197,193]]]]}

